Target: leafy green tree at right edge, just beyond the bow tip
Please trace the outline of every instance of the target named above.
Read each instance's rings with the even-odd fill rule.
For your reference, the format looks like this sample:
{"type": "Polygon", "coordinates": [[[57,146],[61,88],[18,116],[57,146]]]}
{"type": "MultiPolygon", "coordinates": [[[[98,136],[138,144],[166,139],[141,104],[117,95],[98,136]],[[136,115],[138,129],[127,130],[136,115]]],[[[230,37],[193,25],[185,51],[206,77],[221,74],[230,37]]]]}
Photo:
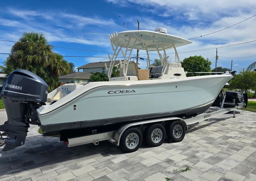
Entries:
{"type": "Polygon", "coordinates": [[[229,89],[238,89],[240,92],[246,93],[250,89],[256,90],[256,72],[239,72],[238,75],[234,75],[234,78],[230,81],[229,89]]]}

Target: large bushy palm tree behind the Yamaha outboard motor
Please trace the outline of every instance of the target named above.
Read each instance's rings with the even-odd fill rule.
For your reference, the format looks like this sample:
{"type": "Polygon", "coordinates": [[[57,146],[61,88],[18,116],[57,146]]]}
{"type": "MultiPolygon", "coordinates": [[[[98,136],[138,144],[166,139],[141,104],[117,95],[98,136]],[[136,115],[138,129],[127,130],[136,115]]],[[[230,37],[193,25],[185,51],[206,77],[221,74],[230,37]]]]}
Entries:
{"type": "Polygon", "coordinates": [[[3,72],[9,75],[15,69],[29,70],[46,81],[49,92],[58,86],[59,75],[70,72],[67,61],[52,51],[44,34],[25,32],[11,52],[1,67],[3,72]]]}

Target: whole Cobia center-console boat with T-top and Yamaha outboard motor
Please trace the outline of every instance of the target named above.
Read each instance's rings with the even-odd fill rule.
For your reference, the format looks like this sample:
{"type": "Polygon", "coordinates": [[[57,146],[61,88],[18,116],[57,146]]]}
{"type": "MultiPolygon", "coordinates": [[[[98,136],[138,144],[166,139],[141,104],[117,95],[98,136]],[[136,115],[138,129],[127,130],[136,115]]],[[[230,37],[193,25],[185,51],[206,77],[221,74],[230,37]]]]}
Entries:
{"type": "Polygon", "coordinates": [[[109,81],[84,84],[52,104],[46,105],[47,84],[37,75],[21,69],[9,75],[1,92],[8,116],[8,121],[0,126],[4,132],[1,137],[6,136],[0,140],[0,144],[6,145],[4,150],[24,144],[29,124],[37,124],[47,136],[75,134],[86,128],[93,131],[96,126],[104,130],[153,118],[193,117],[209,109],[233,78],[186,77],[176,48],[192,42],[167,34],[163,28],[113,33],[110,42],[113,56],[108,55],[111,64],[106,67],[109,81]],[[139,69],[132,61],[134,49],[145,51],[145,69],[139,69]],[[174,62],[168,62],[168,49],[175,52],[174,62]],[[150,65],[152,51],[157,52],[161,66],[150,65]],[[123,61],[117,60],[119,55],[123,61]],[[116,61],[120,62],[120,76],[111,78],[116,61]]]}

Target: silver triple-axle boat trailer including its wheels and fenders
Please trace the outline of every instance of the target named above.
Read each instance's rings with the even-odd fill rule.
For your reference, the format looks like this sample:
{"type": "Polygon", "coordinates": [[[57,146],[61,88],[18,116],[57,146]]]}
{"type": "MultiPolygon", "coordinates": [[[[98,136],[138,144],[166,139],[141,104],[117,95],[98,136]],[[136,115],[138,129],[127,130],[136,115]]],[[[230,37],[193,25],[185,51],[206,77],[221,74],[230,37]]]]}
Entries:
{"type": "MultiPolygon", "coordinates": [[[[224,101],[221,103],[223,106],[224,101]]],[[[82,144],[93,143],[98,145],[100,141],[110,141],[112,144],[119,146],[123,152],[134,152],[140,148],[143,138],[150,147],[158,147],[165,141],[165,138],[170,142],[180,142],[183,140],[186,131],[192,125],[199,124],[201,121],[214,118],[228,112],[233,112],[235,118],[235,111],[238,108],[244,107],[244,103],[239,103],[235,107],[211,107],[201,115],[192,118],[160,118],[149,119],[119,126],[115,130],[97,132],[93,129],[90,134],[62,138],[67,147],[74,147],[82,144]]],[[[63,137],[64,135],[61,135],[63,137]]],[[[65,137],[65,136],[64,136],[65,137]]]]}

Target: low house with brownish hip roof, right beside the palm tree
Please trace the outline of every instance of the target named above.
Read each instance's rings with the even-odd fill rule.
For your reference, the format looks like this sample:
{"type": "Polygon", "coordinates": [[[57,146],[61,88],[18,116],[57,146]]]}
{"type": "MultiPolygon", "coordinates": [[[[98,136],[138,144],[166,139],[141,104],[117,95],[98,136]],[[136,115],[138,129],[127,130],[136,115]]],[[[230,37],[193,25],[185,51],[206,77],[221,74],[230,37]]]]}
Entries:
{"type": "Polygon", "coordinates": [[[91,73],[74,72],[68,75],[59,76],[59,82],[64,83],[87,83],[90,79],[91,73]]]}

